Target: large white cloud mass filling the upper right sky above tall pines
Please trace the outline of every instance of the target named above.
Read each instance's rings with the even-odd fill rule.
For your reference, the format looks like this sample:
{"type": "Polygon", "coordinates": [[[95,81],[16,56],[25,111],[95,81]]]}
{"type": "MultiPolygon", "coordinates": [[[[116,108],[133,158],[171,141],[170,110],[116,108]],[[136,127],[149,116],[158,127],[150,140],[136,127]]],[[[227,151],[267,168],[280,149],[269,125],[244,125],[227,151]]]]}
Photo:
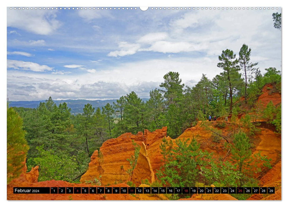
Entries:
{"type": "MultiPolygon", "coordinates": [[[[204,56],[218,56],[226,48],[237,55],[243,43],[252,48],[252,55],[279,56],[281,33],[273,28],[271,11],[193,11],[172,18],[163,30],[125,42],[133,47],[111,51],[108,56],[120,57],[141,51],[181,53],[198,51],[204,56]],[[251,21],[253,19],[253,21],[251,21]],[[161,31],[161,32],[160,32],[161,31]],[[269,53],[269,55],[268,55],[269,53]]],[[[281,55],[281,54],[280,54],[281,55]]],[[[259,59],[259,58],[258,58],[259,59]]]]}

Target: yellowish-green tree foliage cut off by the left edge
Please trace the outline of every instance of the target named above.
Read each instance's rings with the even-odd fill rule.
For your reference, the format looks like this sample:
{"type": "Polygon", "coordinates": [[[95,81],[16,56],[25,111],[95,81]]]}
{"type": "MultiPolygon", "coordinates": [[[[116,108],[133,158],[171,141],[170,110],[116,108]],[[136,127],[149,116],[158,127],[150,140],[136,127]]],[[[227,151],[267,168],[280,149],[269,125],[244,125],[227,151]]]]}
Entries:
{"type": "Polygon", "coordinates": [[[7,184],[21,174],[25,165],[29,147],[22,124],[20,116],[7,104],[7,184]]]}

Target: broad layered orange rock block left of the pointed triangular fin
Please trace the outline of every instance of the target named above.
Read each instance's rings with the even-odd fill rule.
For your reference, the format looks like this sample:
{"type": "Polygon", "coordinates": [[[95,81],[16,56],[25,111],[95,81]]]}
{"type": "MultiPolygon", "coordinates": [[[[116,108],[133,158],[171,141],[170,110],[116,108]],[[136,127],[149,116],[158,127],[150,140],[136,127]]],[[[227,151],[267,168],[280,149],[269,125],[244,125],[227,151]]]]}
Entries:
{"type": "Polygon", "coordinates": [[[132,140],[141,146],[144,141],[143,133],[136,135],[125,133],[117,138],[105,141],[100,147],[103,159],[99,158],[99,152],[95,151],[91,157],[87,172],[82,175],[80,182],[95,181],[98,179],[102,185],[127,182],[129,175],[126,172],[130,168],[127,161],[134,153],[132,140]]]}

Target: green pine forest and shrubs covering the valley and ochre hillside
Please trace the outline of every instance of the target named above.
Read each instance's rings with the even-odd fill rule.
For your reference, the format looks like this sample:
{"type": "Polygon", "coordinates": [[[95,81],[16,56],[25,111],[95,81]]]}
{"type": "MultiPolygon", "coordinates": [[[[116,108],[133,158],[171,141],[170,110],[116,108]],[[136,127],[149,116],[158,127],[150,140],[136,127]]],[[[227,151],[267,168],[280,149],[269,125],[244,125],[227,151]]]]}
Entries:
{"type": "MultiPolygon", "coordinates": [[[[208,177],[223,185],[251,182],[250,172],[243,172],[246,169],[244,166],[251,163],[249,138],[256,133],[251,121],[266,119],[281,133],[281,105],[275,107],[271,103],[264,108],[255,102],[267,83],[271,83],[273,90],[281,93],[281,72],[270,67],[262,69],[265,72],[261,73],[257,63],[251,62],[251,53],[251,48],[246,44],[243,44],[237,54],[229,49],[222,51],[217,64],[221,69],[220,74],[211,80],[203,74],[193,87],[185,86],[178,72],[168,72],[163,76],[159,88],[150,91],[146,102],[131,91],[113,105],[108,103],[102,109],[86,104],[83,113],[77,115],[70,113],[66,103],[56,106],[52,97],[40,103],[36,109],[9,108],[8,102],[7,166],[9,164],[10,167],[7,169],[7,178],[10,181],[19,175],[21,166],[13,165],[19,163],[15,161],[15,155],[20,153],[23,156],[17,156],[17,159],[24,159],[27,151],[27,170],[38,165],[39,182],[50,179],[78,182],[88,168],[90,156],[95,150],[99,150],[105,140],[116,138],[125,132],[136,134],[144,129],[154,131],[163,126],[167,126],[167,135],[177,138],[198,121],[207,120],[209,115],[219,118],[230,114],[233,121],[244,110],[237,104],[244,97],[248,107],[248,111],[245,109],[244,112],[250,111],[257,115],[245,116],[241,120],[242,130],[237,127],[235,130],[234,127],[233,147],[230,148],[235,164],[214,163],[217,172],[213,174],[218,177],[213,177],[206,167],[213,164],[210,161],[211,155],[200,151],[195,139],[190,144],[179,141],[177,148],[172,149],[163,138],[160,148],[165,164],[157,176],[159,182],[171,186],[195,185],[200,178],[207,181],[208,177]],[[185,157],[193,159],[187,161],[185,157]],[[196,168],[196,165],[200,168],[196,168]],[[229,171],[231,177],[223,177],[221,170],[229,171]]],[[[259,156],[257,159],[265,161],[265,157],[259,156]]]]}

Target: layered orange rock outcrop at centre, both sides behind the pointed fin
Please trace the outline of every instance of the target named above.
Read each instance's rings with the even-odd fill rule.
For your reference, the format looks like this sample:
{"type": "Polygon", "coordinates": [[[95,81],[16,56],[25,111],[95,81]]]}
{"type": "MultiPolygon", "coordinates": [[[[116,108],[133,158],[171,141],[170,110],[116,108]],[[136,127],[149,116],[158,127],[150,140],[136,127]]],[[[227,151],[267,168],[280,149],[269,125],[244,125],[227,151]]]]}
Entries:
{"type": "MultiPolygon", "coordinates": [[[[89,168],[87,172],[82,175],[80,182],[85,183],[85,181],[94,181],[95,178],[101,180],[102,185],[128,182],[130,178],[126,171],[131,166],[127,159],[134,154],[135,150],[132,140],[139,146],[142,146],[143,144],[145,146],[145,148],[142,146],[141,155],[139,155],[140,160],[139,164],[137,163],[138,169],[136,169],[136,174],[140,173],[141,170],[149,172],[147,175],[141,176],[141,178],[137,180],[137,183],[140,184],[141,179],[154,181],[154,178],[152,179],[154,174],[152,176],[150,170],[153,169],[155,173],[156,169],[159,169],[160,167],[161,154],[159,145],[162,138],[166,136],[166,132],[167,127],[163,127],[154,132],[145,130],[144,134],[142,132],[138,132],[136,135],[125,133],[117,138],[105,141],[100,147],[103,161],[100,161],[99,163],[98,151],[95,151],[91,156],[89,168]],[[146,169],[141,169],[141,164],[143,164],[146,169]],[[151,165],[151,169],[149,165],[151,165]]],[[[134,178],[136,179],[135,176],[134,178]]]]}

